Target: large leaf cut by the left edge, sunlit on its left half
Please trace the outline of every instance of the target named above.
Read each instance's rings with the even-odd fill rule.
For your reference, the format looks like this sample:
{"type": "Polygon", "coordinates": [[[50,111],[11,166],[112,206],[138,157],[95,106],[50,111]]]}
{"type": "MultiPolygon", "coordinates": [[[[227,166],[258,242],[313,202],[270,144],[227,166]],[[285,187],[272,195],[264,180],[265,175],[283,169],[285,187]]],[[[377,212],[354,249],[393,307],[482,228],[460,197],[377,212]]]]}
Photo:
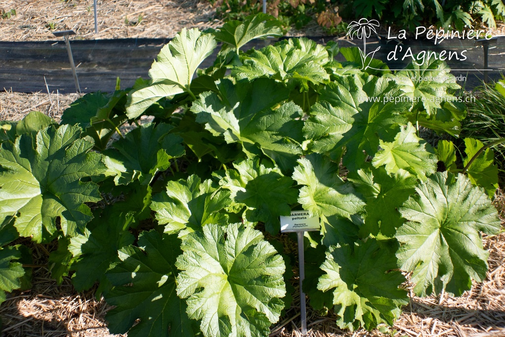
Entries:
{"type": "Polygon", "coordinates": [[[0,151],[0,218],[16,216],[21,236],[41,242],[57,231],[81,233],[92,219],[89,207],[102,199],[89,177],[106,170],[93,143],[80,138],[77,126],[49,126],[36,135],[23,134],[0,151]]]}

